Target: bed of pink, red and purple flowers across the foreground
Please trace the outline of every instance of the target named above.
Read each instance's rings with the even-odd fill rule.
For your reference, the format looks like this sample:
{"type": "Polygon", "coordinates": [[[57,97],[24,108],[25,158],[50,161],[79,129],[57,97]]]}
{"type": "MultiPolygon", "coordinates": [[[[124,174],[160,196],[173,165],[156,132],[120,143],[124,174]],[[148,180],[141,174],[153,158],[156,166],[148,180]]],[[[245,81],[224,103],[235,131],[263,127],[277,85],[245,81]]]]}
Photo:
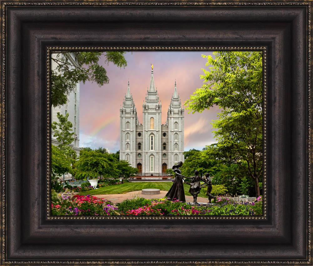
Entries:
{"type": "Polygon", "coordinates": [[[51,210],[52,215],[262,215],[261,197],[255,202],[233,202],[225,197],[217,197],[217,203],[192,206],[178,200],[135,197],[114,206],[103,198],[52,192],[51,210]]]}

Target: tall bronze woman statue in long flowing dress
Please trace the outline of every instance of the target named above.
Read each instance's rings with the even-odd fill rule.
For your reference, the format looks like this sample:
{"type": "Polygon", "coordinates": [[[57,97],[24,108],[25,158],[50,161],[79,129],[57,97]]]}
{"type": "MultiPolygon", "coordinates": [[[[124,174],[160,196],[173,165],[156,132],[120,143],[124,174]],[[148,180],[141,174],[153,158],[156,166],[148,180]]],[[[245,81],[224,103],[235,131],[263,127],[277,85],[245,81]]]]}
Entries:
{"type": "Polygon", "coordinates": [[[169,200],[179,200],[182,202],[186,202],[185,199],[185,192],[184,192],[184,185],[182,182],[182,171],[180,171],[179,167],[182,166],[182,161],[179,161],[177,164],[175,164],[172,169],[176,173],[175,179],[173,182],[172,187],[167,192],[166,196],[169,200]]]}

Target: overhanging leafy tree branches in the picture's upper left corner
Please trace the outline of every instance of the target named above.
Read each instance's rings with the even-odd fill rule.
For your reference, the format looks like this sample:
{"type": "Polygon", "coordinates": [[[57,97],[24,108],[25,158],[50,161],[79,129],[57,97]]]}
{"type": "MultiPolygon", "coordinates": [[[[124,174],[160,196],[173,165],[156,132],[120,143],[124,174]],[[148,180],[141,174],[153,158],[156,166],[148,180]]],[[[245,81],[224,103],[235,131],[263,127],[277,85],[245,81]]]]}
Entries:
{"type": "Polygon", "coordinates": [[[106,64],[113,63],[117,67],[126,67],[127,62],[123,51],[77,52],[77,65],[72,62],[69,52],[55,54],[51,59],[56,63],[56,69],[51,74],[52,105],[64,105],[67,95],[73,91],[78,82],[96,82],[99,86],[109,84],[109,77],[103,66],[99,65],[100,57],[106,64]]]}

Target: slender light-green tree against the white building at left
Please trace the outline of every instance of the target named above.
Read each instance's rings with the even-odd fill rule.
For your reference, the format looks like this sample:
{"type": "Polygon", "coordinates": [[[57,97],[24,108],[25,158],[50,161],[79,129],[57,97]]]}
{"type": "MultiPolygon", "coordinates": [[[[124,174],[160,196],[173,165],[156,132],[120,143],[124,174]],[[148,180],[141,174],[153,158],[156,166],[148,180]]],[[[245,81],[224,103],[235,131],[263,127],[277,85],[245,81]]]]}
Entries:
{"type": "MultiPolygon", "coordinates": [[[[75,159],[76,152],[72,150],[69,146],[74,141],[74,132],[72,132],[73,124],[68,121],[69,114],[61,115],[57,113],[58,122],[54,121],[51,125],[54,131],[53,136],[59,141],[58,148],[64,153],[68,158],[75,159]]],[[[72,164],[74,160],[72,160],[72,164]]]]}

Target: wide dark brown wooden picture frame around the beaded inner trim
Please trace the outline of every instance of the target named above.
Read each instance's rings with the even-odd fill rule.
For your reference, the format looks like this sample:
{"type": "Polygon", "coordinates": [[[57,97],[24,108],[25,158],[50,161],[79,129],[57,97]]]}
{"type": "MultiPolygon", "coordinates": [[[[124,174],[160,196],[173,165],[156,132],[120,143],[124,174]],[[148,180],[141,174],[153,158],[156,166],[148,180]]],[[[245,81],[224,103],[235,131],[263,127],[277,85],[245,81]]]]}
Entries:
{"type": "Polygon", "coordinates": [[[312,2],[0,3],[1,265],[312,265],[312,2]],[[265,47],[266,217],[50,219],[51,47],[265,47]]]}

